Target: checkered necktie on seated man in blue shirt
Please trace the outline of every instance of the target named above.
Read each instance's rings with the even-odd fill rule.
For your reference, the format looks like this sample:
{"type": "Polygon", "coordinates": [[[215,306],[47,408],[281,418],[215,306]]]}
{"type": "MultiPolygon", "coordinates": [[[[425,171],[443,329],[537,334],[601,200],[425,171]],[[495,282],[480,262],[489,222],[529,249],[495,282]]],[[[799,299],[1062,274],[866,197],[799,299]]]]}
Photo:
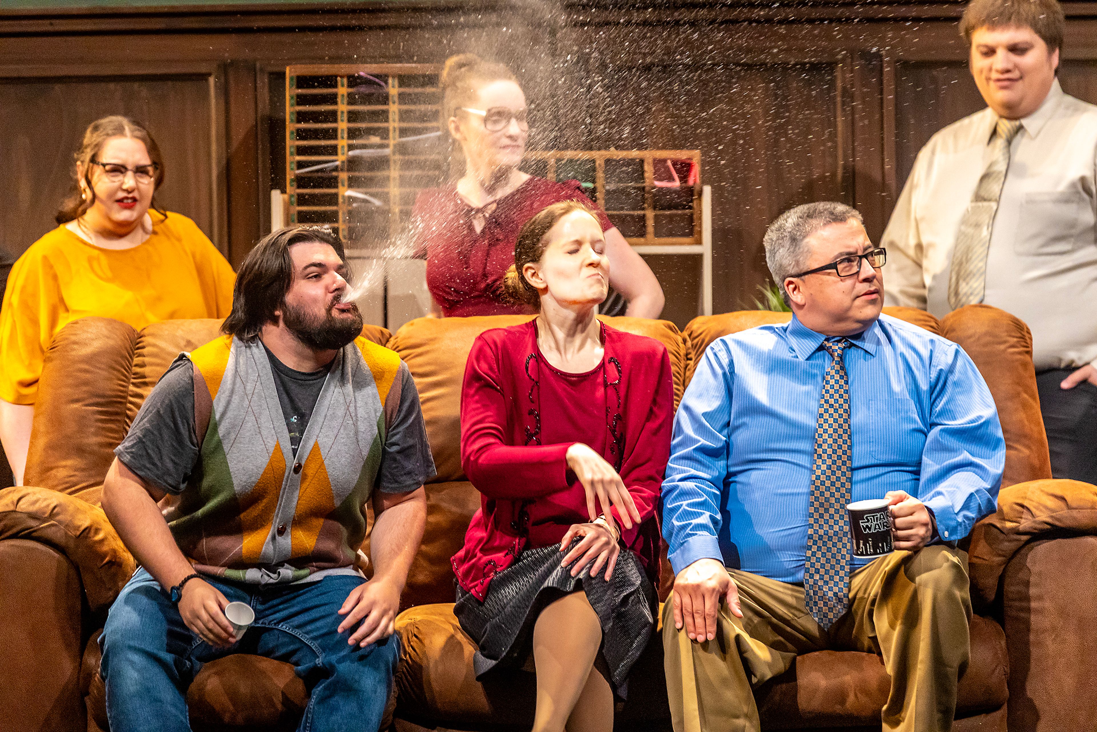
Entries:
{"type": "Polygon", "coordinates": [[[849,607],[850,540],[846,506],[850,502],[853,472],[849,380],[842,363],[848,347],[845,338],[823,341],[823,348],[834,360],[823,376],[812,454],[804,603],[824,630],[849,607]]]}

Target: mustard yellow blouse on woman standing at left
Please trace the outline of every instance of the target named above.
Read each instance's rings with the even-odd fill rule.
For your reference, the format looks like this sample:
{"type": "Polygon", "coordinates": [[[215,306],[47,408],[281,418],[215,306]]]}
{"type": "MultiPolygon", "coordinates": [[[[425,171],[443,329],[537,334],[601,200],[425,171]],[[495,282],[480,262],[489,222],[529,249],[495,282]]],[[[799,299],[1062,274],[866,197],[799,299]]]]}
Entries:
{"type": "Polygon", "coordinates": [[[78,318],[139,329],[228,315],[236,274],[213,243],[182,214],[149,215],[152,234],[132,249],[102,249],[58,226],[12,266],[0,307],[0,399],[34,404],[49,341],[78,318]]]}

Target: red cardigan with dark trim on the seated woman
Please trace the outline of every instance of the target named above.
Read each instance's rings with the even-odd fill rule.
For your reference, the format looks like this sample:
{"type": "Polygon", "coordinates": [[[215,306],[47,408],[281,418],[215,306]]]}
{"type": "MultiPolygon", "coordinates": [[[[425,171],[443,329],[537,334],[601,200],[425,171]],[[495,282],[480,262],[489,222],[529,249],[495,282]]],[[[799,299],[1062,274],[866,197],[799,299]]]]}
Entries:
{"type": "MultiPolygon", "coordinates": [[[[641,525],[622,529],[621,541],[636,553],[654,581],[659,571],[656,507],[670,457],[674,385],[666,347],[654,338],[602,326],[607,409],[603,457],[640,510],[641,525]]],[[[463,588],[479,599],[496,572],[507,568],[529,543],[559,542],[572,523],[585,523],[586,493],[568,470],[572,442],[541,444],[541,364],[536,322],[482,334],[473,344],[461,393],[461,465],[479,489],[480,509],[453,556],[463,588]],[[552,496],[551,505],[539,498],[552,496]],[[559,506],[573,509],[559,521],[559,506]],[[555,515],[555,520],[548,519],[555,515]]]]}

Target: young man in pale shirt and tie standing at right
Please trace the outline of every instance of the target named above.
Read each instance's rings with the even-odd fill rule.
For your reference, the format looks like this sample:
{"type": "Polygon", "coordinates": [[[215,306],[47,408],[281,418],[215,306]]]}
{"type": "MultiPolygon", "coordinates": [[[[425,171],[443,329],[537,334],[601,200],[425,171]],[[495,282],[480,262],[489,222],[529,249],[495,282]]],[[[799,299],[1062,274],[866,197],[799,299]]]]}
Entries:
{"type": "Polygon", "coordinates": [[[885,303],[972,303],[1032,331],[1055,477],[1097,482],[1097,106],[1055,78],[1055,0],[973,0],[960,31],[987,109],[921,149],[884,232],[885,303]]]}

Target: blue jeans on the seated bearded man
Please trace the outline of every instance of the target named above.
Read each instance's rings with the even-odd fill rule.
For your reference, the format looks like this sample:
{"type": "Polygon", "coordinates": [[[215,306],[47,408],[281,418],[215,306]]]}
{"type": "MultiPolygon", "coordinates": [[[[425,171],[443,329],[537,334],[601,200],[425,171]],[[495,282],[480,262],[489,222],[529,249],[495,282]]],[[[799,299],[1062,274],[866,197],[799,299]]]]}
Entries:
{"type": "Polygon", "coordinates": [[[137,570],[111,607],[100,643],[111,732],[189,732],[186,688],[202,664],[249,653],[293,664],[309,690],[301,732],[374,732],[393,688],[399,640],[348,645],[336,611],[361,577],[333,575],[282,587],[242,587],[203,577],[256,620],[244,638],[216,649],[191,632],[168,593],[137,570]]]}

